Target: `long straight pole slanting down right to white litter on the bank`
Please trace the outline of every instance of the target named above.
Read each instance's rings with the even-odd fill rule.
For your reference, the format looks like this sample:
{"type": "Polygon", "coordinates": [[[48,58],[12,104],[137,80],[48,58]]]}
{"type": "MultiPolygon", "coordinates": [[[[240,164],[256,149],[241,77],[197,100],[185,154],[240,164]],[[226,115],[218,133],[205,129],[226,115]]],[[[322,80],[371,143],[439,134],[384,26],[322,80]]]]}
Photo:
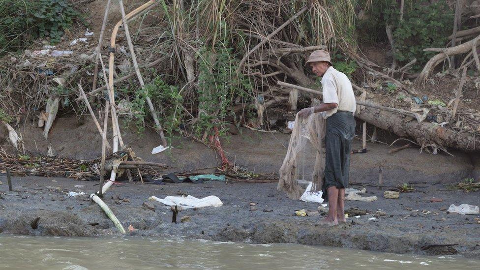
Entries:
{"type": "MultiPolygon", "coordinates": [[[[130,38],[130,32],[128,30],[128,24],[127,24],[127,19],[126,19],[126,15],[125,15],[125,8],[123,7],[123,0],[119,0],[119,4],[120,4],[120,11],[121,11],[121,16],[122,16],[122,20],[123,20],[123,28],[124,28],[124,31],[125,31],[125,36],[127,38],[128,47],[130,49],[130,54],[132,55],[133,67],[135,68],[135,72],[136,72],[138,80],[140,82],[140,86],[143,89],[143,88],[145,88],[145,83],[143,81],[142,74],[140,74],[140,68],[138,67],[137,57],[135,55],[135,50],[133,48],[132,39],[130,38]]],[[[165,139],[165,135],[163,134],[162,125],[160,124],[160,121],[158,120],[157,113],[156,113],[155,108],[153,107],[153,103],[151,102],[151,99],[148,95],[146,96],[146,100],[147,100],[147,103],[148,103],[149,108],[150,108],[151,116],[153,117],[153,120],[155,122],[157,132],[160,134],[160,139],[162,140],[162,144],[164,146],[167,146],[168,143],[167,143],[167,140],[165,139]]]]}

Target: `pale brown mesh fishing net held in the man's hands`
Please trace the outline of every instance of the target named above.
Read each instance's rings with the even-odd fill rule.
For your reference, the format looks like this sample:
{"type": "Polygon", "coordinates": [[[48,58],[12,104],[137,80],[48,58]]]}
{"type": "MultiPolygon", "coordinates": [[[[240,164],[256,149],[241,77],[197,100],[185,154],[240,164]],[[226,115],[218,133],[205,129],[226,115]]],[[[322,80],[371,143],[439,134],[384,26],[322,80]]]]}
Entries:
{"type": "Polygon", "coordinates": [[[287,155],[283,160],[279,174],[278,190],[283,190],[291,199],[300,199],[302,190],[299,178],[305,178],[304,166],[306,158],[306,150],[308,147],[315,149],[315,164],[312,173],[312,192],[322,190],[324,178],[324,139],[325,139],[326,120],[321,113],[312,114],[306,119],[295,118],[295,124],[290,137],[287,155]]]}

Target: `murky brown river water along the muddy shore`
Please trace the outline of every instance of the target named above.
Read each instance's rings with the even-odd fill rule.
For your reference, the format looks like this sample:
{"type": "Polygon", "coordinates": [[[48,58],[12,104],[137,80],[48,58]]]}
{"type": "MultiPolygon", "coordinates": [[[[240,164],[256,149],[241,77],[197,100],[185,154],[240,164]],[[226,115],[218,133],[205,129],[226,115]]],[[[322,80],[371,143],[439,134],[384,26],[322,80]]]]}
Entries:
{"type": "Polygon", "coordinates": [[[0,269],[478,269],[480,260],[297,244],[0,236],[0,269]]]}

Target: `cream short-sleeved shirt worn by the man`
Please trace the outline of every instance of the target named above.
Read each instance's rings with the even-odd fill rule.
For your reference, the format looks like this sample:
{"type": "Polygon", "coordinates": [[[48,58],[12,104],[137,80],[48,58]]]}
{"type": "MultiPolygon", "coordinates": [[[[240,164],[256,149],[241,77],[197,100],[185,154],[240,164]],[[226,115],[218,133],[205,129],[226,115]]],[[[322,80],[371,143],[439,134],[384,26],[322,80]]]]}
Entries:
{"type": "Polygon", "coordinates": [[[336,103],[338,106],[325,112],[327,119],[337,111],[347,111],[355,114],[357,101],[352,89],[352,83],[347,75],[330,66],[322,77],[322,93],[324,103],[336,103]]]}

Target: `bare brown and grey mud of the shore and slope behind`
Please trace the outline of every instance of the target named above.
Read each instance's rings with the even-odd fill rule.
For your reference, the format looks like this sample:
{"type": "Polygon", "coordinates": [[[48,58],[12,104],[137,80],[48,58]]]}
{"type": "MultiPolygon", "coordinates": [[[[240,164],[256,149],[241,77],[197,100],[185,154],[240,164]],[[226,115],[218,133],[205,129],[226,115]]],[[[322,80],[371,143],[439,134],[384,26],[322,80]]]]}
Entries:
{"type": "MultiPolygon", "coordinates": [[[[151,155],[159,143],[158,135],[147,129],[142,135],[123,127],[124,141],[145,160],[163,162],[171,166],[165,171],[184,172],[203,169],[213,172],[220,164],[215,152],[189,139],[174,141],[172,153],[151,155]],[[205,169],[210,168],[210,169],[205,169]],[[213,169],[212,169],[213,168],[213,169]]],[[[32,152],[46,153],[52,145],[58,156],[89,159],[98,156],[100,136],[88,118],[59,118],[45,140],[41,129],[26,126],[23,138],[32,152]],[[86,143],[89,142],[89,143],[86,143]]],[[[290,139],[288,133],[255,132],[246,128],[233,130],[222,140],[231,162],[250,171],[276,173],[285,157],[290,139]]],[[[8,146],[3,144],[4,149],[8,146]]],[[[361,141],[354,141],[354,149],[361,141]]],[[[388,146],[368,143],[368,152],[354,154],[351,163],[351,187],[378,183],[382,168],[384,185],[394,188],[407,182],[417,189],[402,193],[400,199],[385,199],[384,188],[366,185],[368,196],[377,196],[371,203],[346,202],[346,209],[358,208],[368,214],[360,218],[352,213],[347,224],[317,226],[321,216],[295,216],[295,210],[316,211],[318,205],[293,201],[276,190],[276,183],[206,182],[166,185],[129,184],[114,185],[106,194],[105,202],[111,207],[125,228],[132,225],[137,236],[175,235],[219,241],[253,243],[302,243],[364,250],[418,254],[460,254],[480,258],[480,224],[478,216],[448,214],[450,204],[480,205],[480,192],[440,191],[445,184],[466,177],[478,177],[478,155],[451,151],[432,155],[410,148],[389,154],[388,146]],[[119,197],[116,197],[118,194],[119,197]],[[190,194],[195,197],[218,196],[224,206],[198,210],[184,210],[191,221],[172,223],[169,207],[147,199],[154,195],[190,194]],[[112,196],[115,196],[114,199],[112,196]],[[431,203],[431,198],[443,202],[431,203]],[[254,203],[255,206],[250,205],[254,203]],[[376,211],[385,216],[374,217],[376,211]],[[417,211],[418,210],[418,211],[417,211]],[[430,212],[428,212],[430,211],[430,212]],[[449,247],[428,247],[436,244],[458,244],[449,247]],[[425,250],[422,250],[425,249],[425,250]]],[[[313,153],[312,153],[313,157],[313,153]]],[[[305,176],[310,175],[313,158],[304,159],[305,176]]],[[[24,234],[39,236],[98,236],[119,235],[103,211],[90,202],[88,196],[68,197],[69,191],[98,190],[98,181],[75,181],[62,178],[14,177],[15,192],[8,192],[5,176],[0,181],[0,235],[24,234]],[[83,185],[83,187],[74,187],[83,185]],[[38,226],[31,224],[37,217],[38,226]]]]}

